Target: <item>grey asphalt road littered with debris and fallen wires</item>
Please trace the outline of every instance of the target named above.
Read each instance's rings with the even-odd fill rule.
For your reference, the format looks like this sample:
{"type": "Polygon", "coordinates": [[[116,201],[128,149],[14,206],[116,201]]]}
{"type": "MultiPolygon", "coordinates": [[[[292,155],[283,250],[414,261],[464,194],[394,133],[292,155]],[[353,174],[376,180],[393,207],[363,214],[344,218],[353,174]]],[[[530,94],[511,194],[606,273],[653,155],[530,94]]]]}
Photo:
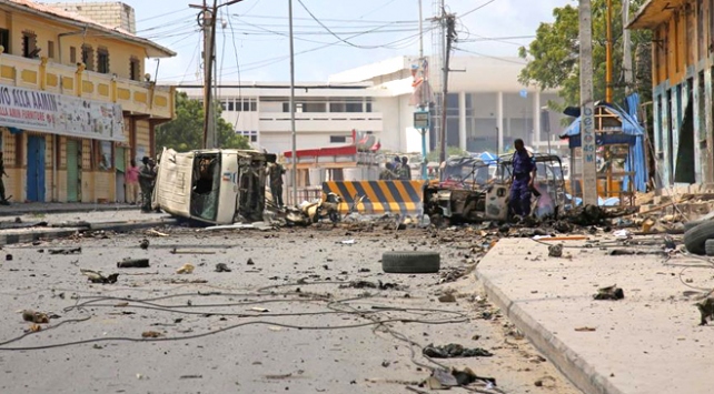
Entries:
{"type": "Polygon", "coordinates": [[[6,246],[0,392],[429,392],[417,385],[438,365],[422,347],[458,343],[494,356],[436,361],[494,377],[505,393],[578,393],[483,299],[473,274],[439,283],[440,274],[381,272],[383,252],[415,249],[439,251],[442,274],[464,269],[478,260],[472,234],[445,242],[424,230],[167,232],[6,246]],[[148,250],[138,246],[143,238],[148,250]],[[126,257],[151,266],[117,269],[126,257]],[[195,271],[177,274],[186,263],[195,271]],[[217,263],[231,272],[215,272],[217,263]],[[80,269],[119,273],[118,282],[92,284],[80,269]],[[349,286],[359,280],[398,289],[349,286]],[[437,300],[447,292],[457,302],[437,300]],[[58,317],[13,340],[32,326],[22,310],[58,317]],[[148,332],[159,336],[142,337],[148,332]]]}

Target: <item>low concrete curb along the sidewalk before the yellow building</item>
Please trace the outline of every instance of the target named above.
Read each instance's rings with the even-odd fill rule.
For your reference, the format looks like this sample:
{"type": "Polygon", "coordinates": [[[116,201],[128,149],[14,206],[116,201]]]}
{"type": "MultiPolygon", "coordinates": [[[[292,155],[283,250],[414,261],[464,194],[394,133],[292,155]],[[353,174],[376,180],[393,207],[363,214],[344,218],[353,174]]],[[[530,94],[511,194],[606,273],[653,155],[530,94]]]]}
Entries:
{"type": "Polygon", "coordinates": [[[152,220],[142,222],[127,222],[127,223],[92,223],[90,228],[67,228],[67,229],[42,229],[38,231],[23,232],[23,233],[8,233],[0,234],[0,246],[10,245],[16,243],[30,243],[39,240],[57,240],[68,238],[77,233],[87,231],[116,231],[128,232],[133,230],[150,229],[161,225],[176,225],[178,223],[175,219],[152,220]]]}

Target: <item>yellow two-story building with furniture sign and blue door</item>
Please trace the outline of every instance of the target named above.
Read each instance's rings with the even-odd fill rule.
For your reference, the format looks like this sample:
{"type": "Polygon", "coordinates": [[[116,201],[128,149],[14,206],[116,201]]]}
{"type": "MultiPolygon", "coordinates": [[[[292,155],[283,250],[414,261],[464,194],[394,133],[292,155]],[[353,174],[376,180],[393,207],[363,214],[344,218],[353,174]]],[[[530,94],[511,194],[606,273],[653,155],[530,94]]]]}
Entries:
{"type": "Polygon", "coordinates": [[[111,10],[120,14],[99,22],[63,4],[0,2],[1,147],[13,200],[123,201],[126,166],[155,154],[155,128],[173,118],[173,89],[157,87],[143,62],[175,53],[135,34],[130,7],[111,10]]]}

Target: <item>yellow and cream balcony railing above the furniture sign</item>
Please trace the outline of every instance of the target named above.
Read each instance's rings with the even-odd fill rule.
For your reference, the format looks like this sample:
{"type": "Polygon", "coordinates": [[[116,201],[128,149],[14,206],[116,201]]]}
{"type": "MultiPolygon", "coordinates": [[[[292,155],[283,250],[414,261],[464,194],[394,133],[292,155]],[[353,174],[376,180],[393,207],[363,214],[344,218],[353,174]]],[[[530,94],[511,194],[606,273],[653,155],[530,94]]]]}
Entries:
{"type": "Polygon", "coordinates": [[[123,111],[157,119],[173,117],[173,88],[88,71],[81,65],[3,53],[0,54],[0,83],[116,102],[123,111]]]}

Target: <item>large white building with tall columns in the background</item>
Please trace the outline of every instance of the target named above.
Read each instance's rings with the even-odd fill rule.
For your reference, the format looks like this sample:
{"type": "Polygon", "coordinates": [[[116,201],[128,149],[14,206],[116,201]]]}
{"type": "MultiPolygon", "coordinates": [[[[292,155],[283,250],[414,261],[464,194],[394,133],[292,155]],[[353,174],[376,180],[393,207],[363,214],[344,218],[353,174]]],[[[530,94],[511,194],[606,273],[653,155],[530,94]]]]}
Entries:
{"type": "MultiPolygon", "coordinates": [[[[419,152],[420,134],[411,127],[415,108],[411,65],[416,58],[400,57],[331,75],[327,83],[297,83],[296,129],[298,149],[351,143],[351,131],[371,133],[383,150],[419,152]]],[[[557,139],[563,115],[544,108],[557,100],[555,92],[523,87],[517,58],[454,57],[447,97],[449,147],[473,152],[510,147],[520,138],[546,151],[565,144],[557,139]],[[548,113],[547,119],[542,118],[548,113]],[[548,132],[549,131],[549,132],[548,132]]],[[[180,87],[201,99],[202,87],[180,87]]],[[[244,82],[218,88],[222,117],[259,148],[270,152],[291,149],[289,84],[244,82]]],[[[433,119],[433,124],[438,119],[433,119]]],[[[433,129],[429,149],[435,149],[433,129]]]]}

